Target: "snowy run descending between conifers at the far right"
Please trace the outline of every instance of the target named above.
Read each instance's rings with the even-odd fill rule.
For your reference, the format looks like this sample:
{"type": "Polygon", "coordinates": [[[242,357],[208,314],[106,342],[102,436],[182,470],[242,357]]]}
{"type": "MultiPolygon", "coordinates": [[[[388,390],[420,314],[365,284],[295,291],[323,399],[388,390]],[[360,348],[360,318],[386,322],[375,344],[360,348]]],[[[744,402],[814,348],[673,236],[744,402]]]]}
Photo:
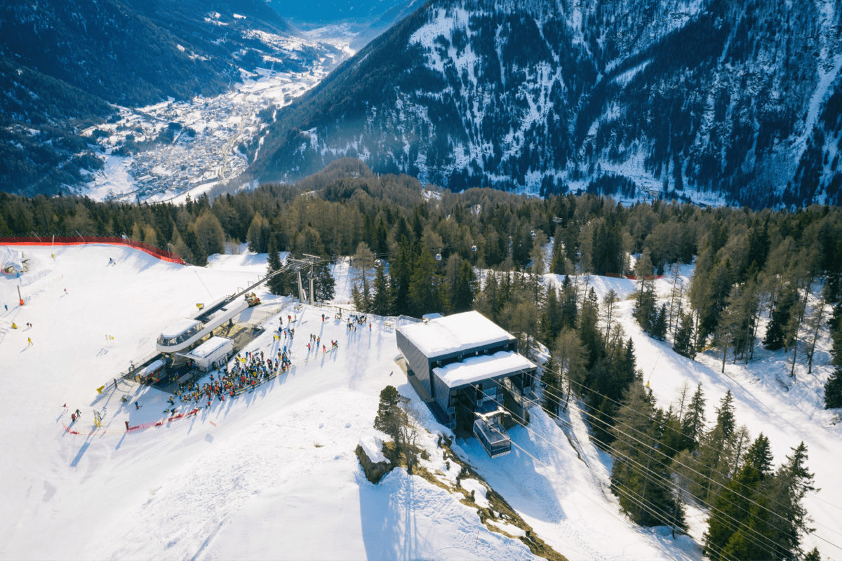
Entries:
{"type": "MultiPolygon", "coordinates": [[[[679,282],[685,289],[690,287],[693,271],[692,266],[680,267],[679,282]]],[[[544,282],[554,283],[560,288],[563,278],[562,275],[546,274],[544,282]]],[[[612,288],[618,294],[617,317],[626,337],[631,336],[634,341],[637,367],[642,370],[659,407],[666,409],[671,403],[676,403],[683,384],[688,384],[692,393],[696,384],[701,382],[707,400],[706,418],[711,423],[716,419],[714,409],[730,389],[738,424],[748,426],[752,437],[761,431],[769,437],[775,465],[784,463],[785,456],[791,455],[790,448],[797,447],[799,442],[807,444],[807,467],[815,474],[815,487],[820,491],[809,493],[804,500],[809,516],[815,521],[811,527],[816,529],[805,538],[804,543],[807,550],[818,547],[823,558],[842,558],[842,548],[839,547],[842,546],[842,481],[838,473],[839,458],[842,458],[842,422],[839,422],[838,411],[823,408],[823,388],[831,373],[831,341],[827,329],[818,341],[811,374],[807,374],[807,357],[803,347],[799,348],[800,357],[793,379],[789,376],[791,352],[769,352],[759,343],[754,351],[754,360],[747,366],[733,364],[733,355],[729,354],[725,373],[722,374],[722,353],[716,349],[701,353],[692,361],[674,352],[669,341],[656,341],[642,332],[632,317],[634,302],[628,299],[639,288],[637,281],[594,275],[587,278],[580,276],[575,280],[580,286],[587,282],[594,287],[600,301],[612,288]]],[[[672,280],[669,276],[658,279],[655,288],[659,297],[666,301],[672,280]]],[[[814,303],[814,299],[811,302],[814,303]]],[[[761,338],[767,321],[763,319],[760,322],[761,338]]],[[[584,448],[589,447],[586,438],[579,436],[579,442],[585,444],[584,448]]],[[[489,479],[489,482],[494,484],[494,479],[489,479]]],[[[689,514],[692,515],[688,517],[690,533],[699,538],[706,527],[704,519],[698,516],[698,511],[689,514]]],[[[527,521],[530,520],[527,518],[527,521]]]]}

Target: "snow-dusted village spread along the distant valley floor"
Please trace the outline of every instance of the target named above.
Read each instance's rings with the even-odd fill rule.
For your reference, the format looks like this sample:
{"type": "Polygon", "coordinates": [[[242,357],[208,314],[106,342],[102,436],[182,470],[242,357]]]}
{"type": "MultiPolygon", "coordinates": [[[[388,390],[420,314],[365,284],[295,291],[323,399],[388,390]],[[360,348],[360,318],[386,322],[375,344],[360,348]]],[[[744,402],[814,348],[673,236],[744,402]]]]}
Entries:
{"type": "Polygon", "coordinates": [[[80,193],[97,200],[166,202],[188,193],[195,198],[240,176],[248,167],[242,146],[259,139],[267,119],[354,53],[347,38],[329,32],[322,37],[318,30],[304,38],[262,33],[260,39],[306,70],[278,71],[281,60],[267,57],[266,68],[241,69],[242,82],[228,93],[120,108],[119,119],[83,131],[97,141],[104,169],[88,177],[80,193]]]}

